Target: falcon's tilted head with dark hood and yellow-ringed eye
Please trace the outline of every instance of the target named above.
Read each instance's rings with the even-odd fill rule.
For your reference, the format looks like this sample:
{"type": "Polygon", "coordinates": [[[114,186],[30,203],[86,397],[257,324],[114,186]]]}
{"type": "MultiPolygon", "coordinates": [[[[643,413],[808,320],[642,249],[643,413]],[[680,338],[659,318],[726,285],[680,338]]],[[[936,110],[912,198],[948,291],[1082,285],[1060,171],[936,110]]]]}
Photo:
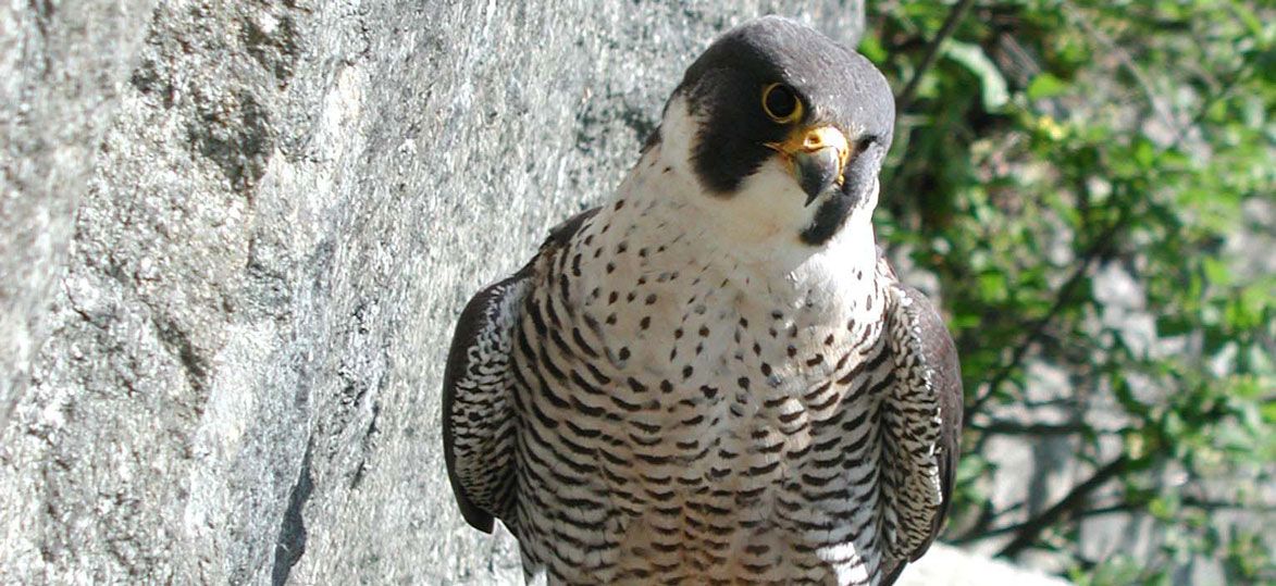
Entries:
{"type": "MultiPolygon", "coordinates": [[[[664,159],[738,245],[818,248],[868,222],[894,98],[854,50],[764,17],[725,33],[686,70],[661,122],[664,159]]],[[[872,231],[872,228],[869,228],[872,231]]]]}

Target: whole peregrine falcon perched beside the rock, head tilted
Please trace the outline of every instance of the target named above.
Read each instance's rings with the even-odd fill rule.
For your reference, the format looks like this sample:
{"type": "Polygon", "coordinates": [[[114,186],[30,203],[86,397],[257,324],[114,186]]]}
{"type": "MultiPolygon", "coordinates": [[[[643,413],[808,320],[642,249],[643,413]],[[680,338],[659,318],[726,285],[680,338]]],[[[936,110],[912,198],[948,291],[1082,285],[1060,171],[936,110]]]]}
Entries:
{"type": "Polygon", "coordinates": [[[792,20],[729,31],[638,163],[461,315],[448,475],[551,585],[889,585],[961,427],[943,321],[870,217],[894,102],[792,20]]]}

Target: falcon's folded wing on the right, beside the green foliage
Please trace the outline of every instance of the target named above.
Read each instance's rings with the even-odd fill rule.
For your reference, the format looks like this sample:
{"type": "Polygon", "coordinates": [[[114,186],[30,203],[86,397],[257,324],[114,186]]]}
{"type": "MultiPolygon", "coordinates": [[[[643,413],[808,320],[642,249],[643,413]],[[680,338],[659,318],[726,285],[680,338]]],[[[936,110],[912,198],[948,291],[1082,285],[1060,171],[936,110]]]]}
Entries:
{"type": "Polygon", "coordinates": [[[884,585],[939,535],[952,499],[962,418],[957,348],[930,299],[891,287],[888,327],[896,383],[882,403],[882,492],[887,552],[884,585]]]}

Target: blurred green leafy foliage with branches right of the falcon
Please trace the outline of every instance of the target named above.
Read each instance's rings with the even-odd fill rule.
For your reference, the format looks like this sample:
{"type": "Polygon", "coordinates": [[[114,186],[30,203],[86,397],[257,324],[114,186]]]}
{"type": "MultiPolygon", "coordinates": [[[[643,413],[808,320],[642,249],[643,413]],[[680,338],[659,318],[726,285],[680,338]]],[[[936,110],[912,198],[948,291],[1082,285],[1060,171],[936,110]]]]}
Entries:
{"type": "Polygon", "coordinates": [[[937,275],[962,357],[947,539],[1046,553],[1083,585],[1183,583],[1201,563],[1276,583],[1276,4],[868,10],[860,50],[917,82],[879,236],[937,275]],[[1067,423],[1023,420],[1032,364],[1065,375],[1044,391],[1067,423]],[[985,455],[997,436],[1068,438],[1072,484],[997,504],[993,479],[1026,473],[985,455]],[[1151,550],[1087,547],[1105,515],[1143,524],[1151,550]]]}

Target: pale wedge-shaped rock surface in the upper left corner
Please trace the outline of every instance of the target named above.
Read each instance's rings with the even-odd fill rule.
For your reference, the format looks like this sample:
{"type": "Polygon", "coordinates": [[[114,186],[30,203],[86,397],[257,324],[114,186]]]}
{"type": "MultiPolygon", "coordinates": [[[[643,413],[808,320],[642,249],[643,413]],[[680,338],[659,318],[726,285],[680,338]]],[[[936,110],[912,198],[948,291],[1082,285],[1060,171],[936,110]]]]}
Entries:
{"type": "Polygon", "coordinates": [[[71,219],[151,1],[0,4],[0,428],[31,381],[71,219]]]}

